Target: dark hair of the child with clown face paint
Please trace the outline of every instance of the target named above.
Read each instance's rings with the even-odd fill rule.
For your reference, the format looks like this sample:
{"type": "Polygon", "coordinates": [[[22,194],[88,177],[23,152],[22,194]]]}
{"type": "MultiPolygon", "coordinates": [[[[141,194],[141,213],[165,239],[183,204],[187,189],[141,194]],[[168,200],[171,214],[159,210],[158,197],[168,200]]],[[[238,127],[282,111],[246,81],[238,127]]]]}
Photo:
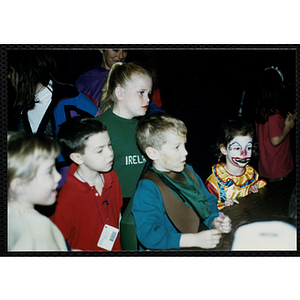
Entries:
{"type": "MultiPolygon", "coordinates": [[[[217,143],[215,145],[215,153],[218,157],[218,161],[221,160],[223,154],[220,152],[220,147],[227,145],[232,141],[237,135],[246,136],[249,135],[252,139],[254,138],[254,127],[252,124],[248,123],[243,119],[236,119],[224,122],[221,127],[220,135],[218,137],[217,143]]],[[[252,153],[255,155],[256,145],[253,143],[252,153]]]]}

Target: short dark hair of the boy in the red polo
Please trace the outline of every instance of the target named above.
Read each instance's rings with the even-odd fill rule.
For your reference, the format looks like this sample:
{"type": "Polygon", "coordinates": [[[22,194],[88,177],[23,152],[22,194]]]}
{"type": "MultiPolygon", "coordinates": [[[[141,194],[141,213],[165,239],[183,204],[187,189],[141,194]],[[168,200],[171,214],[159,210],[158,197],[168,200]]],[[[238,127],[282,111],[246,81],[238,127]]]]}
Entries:
{"type": "Polygon", "coordinates": [[[74,117],[60,125],[57,139],[64,158],[68,161],[71,153],[84,154],[86,140],[106,126],[94,118],[74,117]]]}

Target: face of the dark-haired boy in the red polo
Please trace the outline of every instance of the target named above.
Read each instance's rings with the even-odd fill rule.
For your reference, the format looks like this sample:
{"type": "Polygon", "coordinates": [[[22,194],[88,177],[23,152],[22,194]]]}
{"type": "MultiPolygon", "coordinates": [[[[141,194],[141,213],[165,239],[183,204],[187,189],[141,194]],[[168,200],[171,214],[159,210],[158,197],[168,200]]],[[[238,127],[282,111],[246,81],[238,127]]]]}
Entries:
{"type": "Polygon", "coordinates": [[[85,143],[84,154],[81,157],[84,164],[92,171],[110,171],[114,153],[108,132],[103,131],[90,136],[85,143]]]}

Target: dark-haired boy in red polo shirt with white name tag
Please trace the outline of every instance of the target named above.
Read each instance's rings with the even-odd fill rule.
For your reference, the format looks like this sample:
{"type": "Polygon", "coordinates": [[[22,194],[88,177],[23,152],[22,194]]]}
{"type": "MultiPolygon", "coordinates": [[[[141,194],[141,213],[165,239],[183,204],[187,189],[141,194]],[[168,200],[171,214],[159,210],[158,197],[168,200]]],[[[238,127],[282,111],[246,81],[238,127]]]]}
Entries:
{"type": "Polygon", "coordinates": [[[72,249],[121,250],[122,193],[111,170],[113,150],[106,127],[94,118],[75,117],[61,125],[58,140],[65,159],[74,163],[51,219],[72,249]]]}

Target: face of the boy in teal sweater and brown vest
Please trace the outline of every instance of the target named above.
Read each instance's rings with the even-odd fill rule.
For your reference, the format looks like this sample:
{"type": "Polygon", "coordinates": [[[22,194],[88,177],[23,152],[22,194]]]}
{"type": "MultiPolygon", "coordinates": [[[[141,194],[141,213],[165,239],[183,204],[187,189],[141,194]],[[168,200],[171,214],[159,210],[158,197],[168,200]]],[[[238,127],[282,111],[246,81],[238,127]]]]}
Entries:
{"type": "Polygon", "coordinates": [[[167,142],[158,152],[158,159],[154,166],[161,172],[182,172],[186,164],[187,151],[185,149],[186,136],[178,135],[173,131],[167,134],[167,142]]]}

